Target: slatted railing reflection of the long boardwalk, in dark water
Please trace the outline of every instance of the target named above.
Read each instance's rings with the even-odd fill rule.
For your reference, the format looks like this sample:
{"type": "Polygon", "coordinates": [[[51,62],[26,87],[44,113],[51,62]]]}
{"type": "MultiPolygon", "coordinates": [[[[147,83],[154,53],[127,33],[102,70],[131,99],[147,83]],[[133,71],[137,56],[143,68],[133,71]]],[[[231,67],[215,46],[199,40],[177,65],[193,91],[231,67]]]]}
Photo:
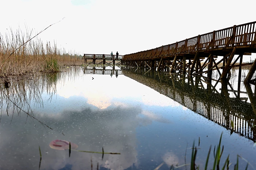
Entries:
{"type": "MultiPolygon", "coordinates": [[[[191,88],[181,88],[179,80],[170,79],[170,82],[160,82],[156,79],[150,79],[143,75],[128,73],[124,71],[124,75],[132,78],[139,83],[145,84],[148,87],[153,88],[159,93],[168,96],[190,110],[204,116],[205,118],[225,127],[226,129],[232,129],[231,120],[234,123],[234,130],[246,138],[256,141],[256,123],[255,114],[253,113],[250,103],[244,101],[237,101],[234,98],[229,98],[229,102],[226,102],[226,98],[223,98],[221,94],[210,94],[217,96],[218,102],[206,99],[208,90],[198,91],[192,90],[191,85],[187,86],[191,88]],[[241,109],[241,110],[239,110],[241,109]]],[[[154,74],[155,75],[155,74],[154,74]]],[[[210,96],[209,95],[209,96],[210,96]]]]}

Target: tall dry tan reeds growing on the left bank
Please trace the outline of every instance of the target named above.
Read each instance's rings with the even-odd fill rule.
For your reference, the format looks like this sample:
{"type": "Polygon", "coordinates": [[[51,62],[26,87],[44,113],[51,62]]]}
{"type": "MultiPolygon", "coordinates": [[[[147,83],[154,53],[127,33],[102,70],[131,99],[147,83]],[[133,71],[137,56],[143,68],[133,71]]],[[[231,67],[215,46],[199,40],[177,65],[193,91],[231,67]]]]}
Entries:
{"type": "Polygon", "coordinates": [[[57,72],[62,66],[83,64],[81,57],[58,49],[55,42],[53,45],[50,42],[44,44],[37,37],[30,40],[33,32],[26,30],[13,31],[10,28],[5,36],[0,33],[0,77],[57,72]]]}

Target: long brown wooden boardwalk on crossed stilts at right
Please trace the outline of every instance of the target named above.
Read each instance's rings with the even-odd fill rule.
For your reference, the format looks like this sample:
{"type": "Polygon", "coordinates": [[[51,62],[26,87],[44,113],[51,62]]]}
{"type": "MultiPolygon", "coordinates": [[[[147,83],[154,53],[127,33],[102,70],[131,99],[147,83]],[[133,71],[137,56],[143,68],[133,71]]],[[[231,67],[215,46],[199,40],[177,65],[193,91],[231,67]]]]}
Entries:
{"type": "MultiPolygon", "coordinates": [[[[207,74],[210,78],[217,70],[226,79],[232,67],[252,65],[245,82],[254,83],[254,63],[242,63],[243,56],[256,53],[256,21],[198,35],[151,50],[124,55],[121,63],[126,66],[180,72],[182,74],[207,74]],[[234,57],[234,55],[238,55],[234,57]],[[215,62],[216,58],[221,58],[215,62]],[[202,59],[206,59],[201,64],[202,59]],[[235,60],[232,63],[232,60],[235,60]],[[236,62],[239,64],[235,65],[236,62]],[[221,66],[220,66],[221,64],[221,66]],[[204,70],[207,68],[207,70],[204,70]]],[[[241,71],[240,71],[241,72],[241,71]]],[[[240,74],[241,75],[241,74],[240,74]]]]}

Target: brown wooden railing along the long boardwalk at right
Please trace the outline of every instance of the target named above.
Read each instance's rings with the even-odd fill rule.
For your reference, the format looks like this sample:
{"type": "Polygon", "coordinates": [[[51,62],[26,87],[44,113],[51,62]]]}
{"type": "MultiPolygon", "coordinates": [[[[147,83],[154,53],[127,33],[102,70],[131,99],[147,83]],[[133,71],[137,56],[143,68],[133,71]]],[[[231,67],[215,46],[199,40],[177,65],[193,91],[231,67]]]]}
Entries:
{"type": "MultiPolygon", "coordinates": [[[[249,47],[256,44],[256,21],[198,35],[151,50],[124,55],[124,60],[150,59],[160,55],[175,56],[206,50],[249,47]]],[[[254,46],[256,48],[256,46],[254,46]]]]}

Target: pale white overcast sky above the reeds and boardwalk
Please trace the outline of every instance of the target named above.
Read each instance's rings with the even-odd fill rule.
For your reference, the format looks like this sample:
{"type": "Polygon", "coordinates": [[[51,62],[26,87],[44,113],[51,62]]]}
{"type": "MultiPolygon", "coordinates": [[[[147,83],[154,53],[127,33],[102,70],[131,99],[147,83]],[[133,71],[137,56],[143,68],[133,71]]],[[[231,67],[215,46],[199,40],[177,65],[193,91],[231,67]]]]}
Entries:
{"type": "Polygon", "coordinates": [[[256,20],[255,0],[1,0],[0,33],[76,54],[131,54],[256,20]]]}

